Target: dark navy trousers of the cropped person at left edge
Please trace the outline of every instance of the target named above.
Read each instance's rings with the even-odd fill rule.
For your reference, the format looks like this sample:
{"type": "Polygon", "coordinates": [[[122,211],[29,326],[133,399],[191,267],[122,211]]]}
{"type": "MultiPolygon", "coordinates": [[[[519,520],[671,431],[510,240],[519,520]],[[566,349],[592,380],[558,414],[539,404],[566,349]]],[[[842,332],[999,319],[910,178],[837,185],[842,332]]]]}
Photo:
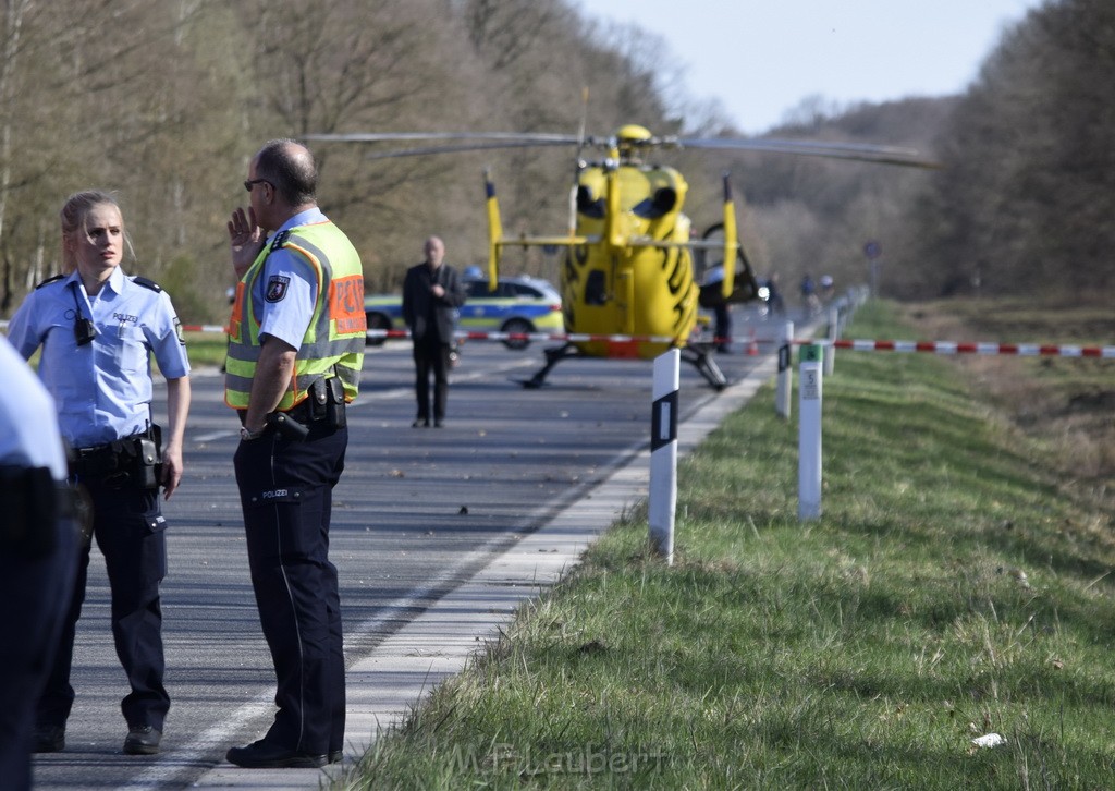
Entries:
{"type": "Polygon", "coordinates": [[[0,548],[0,784],[31,788],[35,705],[58,649],[69,609],[79,536],[70,519],[57,525],[54,551],[25,558],[0,548]]]}

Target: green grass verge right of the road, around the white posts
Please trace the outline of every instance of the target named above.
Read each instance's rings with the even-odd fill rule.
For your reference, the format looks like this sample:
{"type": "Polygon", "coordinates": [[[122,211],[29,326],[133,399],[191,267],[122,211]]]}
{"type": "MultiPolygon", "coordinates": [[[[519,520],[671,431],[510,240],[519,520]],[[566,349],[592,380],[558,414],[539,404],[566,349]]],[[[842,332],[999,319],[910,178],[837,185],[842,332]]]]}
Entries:
{"type": "Polygon", "coordinates": [[[628,514],[336,788],[1111,788],[1106,473],[981,375],[841,353],[807,523],[767,386],[682,461],[672,567],[628,514]]]}

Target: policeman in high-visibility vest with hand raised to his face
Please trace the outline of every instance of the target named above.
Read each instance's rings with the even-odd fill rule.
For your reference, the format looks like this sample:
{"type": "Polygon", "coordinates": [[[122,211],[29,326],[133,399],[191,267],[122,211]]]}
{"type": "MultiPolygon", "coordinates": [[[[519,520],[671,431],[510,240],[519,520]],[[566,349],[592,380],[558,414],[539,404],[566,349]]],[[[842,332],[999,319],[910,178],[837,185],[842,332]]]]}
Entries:
{"type": "Polygon", "coordinates": [[[263,739],[229,750],[246,768],[321,766],[345,744],[329,519],[348,446],[345,405],[363,365],[363,272],[318,209],[317,183],[306,147],[272,141],[249,167],[248,213],[236,209],[229,222],[240,283],[225,401],[243,425],[233,464],[279,706],[263,739]]]}

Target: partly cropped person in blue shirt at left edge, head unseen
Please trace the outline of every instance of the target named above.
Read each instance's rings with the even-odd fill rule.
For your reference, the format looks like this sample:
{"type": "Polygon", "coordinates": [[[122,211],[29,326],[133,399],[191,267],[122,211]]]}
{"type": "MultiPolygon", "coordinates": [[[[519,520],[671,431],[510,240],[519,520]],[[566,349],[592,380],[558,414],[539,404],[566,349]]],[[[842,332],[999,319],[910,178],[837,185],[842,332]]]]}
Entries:
{"type": "Polygon", "coordinates": [[[77,559],[66,455],[50,395],[0,336],[0,784],[31,787],[35,702],[50,667],[77,559]]]}

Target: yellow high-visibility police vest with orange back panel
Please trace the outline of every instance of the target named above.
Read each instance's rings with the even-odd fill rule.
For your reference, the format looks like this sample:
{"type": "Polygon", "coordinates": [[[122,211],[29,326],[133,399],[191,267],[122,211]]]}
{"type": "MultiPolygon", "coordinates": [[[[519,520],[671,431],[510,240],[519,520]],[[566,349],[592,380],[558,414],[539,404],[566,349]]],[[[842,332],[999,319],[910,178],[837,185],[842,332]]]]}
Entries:
{"type": "Polygon", "coordinates": [[[345,385],[345,401],[356,398],[363,366],[367,319],[363,312],[363,269],[360,255],[332,222],[299,225],[278,234],[264,248],[236,284],[229,319],[229,357],[225,363],[224,401],[246,409],[252,379],[260,359],[261,307],[253,299],[263,262],[272,250],[301,255],[318,277],[318,301],[294,361],[294,375],[278,409],[302,403],[318,379],[336,375],[345,385]]]}

